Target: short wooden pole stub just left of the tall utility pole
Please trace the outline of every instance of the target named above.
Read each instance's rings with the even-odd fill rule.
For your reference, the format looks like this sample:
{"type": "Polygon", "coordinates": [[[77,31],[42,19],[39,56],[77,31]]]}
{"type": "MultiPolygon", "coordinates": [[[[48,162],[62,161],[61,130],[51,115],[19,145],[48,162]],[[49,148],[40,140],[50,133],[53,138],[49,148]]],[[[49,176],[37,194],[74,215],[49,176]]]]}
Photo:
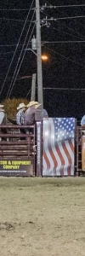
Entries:
{"type": "Polygon", "coordinates": [[[32,74],[32,82],[31,82],[31,101],[35,101],[35,93],[36,93],[36,77],[37,74],[32,74]]]}

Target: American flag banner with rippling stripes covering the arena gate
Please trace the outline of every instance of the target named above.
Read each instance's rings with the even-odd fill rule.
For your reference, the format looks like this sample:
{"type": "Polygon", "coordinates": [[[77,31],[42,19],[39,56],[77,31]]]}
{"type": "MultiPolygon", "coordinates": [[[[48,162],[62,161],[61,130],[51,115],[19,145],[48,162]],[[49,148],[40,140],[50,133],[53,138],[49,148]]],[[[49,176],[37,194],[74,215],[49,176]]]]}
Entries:
{"type": "Polygon", "coordinates": [[[73,176],[75,119],[44,119],[42,129],[42,176],[73,176]]]}

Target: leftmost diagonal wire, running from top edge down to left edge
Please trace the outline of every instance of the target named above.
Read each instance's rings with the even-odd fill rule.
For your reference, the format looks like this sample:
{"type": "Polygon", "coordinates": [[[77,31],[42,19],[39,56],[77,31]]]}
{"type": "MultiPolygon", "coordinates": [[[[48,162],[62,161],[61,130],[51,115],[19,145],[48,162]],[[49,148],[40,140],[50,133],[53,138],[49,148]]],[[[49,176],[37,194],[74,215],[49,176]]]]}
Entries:
{"type": "MultiPolygon", "coordinates": [[[[26,17],[25,24],[24,24],[24,26],[23,26],[23,28],[22,28],[21,33],[20,33],[20,38],[19,38],[18,44],[16,45],[16,48],[15,48],[15,50],[14,50],[14,55],[16,54],[16,51],[17,51],[17,49],[18,49],[18,47],[19,47],[19,45],[20,45],[20,39],[21,39],[22,34],[23,34],[23,32],[24,32],[24,29],[25,29],[25,27],[26,27],[26,22],[27,22],[27,20],[28,20],[29,15],[30,15],[30,12],[31,12],[31,8],[32,8],[33,3],[34,3],[34,0],[32,0],[31,7],[30,7],[29,12],[28,12],[27,17],[26,17]]],[[[6,83],[6,80],[7,80],[7,78],[8,78],[8,73],[9,73],[10,68],[11,68],[11,66],[12,66],[12,63],[13,63],[13,61],[14,61],[14,55],[13,55],[13,57],[12,57],[12,60],[11,60],[11,62],[10,62],[10,65],[9,65],[9,67],[8,67],[8,72],[7,72],[7,74],[6,74],[6,77],[5,77],[4,81],[3,81],[3,85],[2,85],[2,88],[1,88],[1,90],[0,90],[0,96],[1,96],[1,93],[2,93],[2,91],[3,91],[3,87],[4,87],[5,83],[6,83]]]]}

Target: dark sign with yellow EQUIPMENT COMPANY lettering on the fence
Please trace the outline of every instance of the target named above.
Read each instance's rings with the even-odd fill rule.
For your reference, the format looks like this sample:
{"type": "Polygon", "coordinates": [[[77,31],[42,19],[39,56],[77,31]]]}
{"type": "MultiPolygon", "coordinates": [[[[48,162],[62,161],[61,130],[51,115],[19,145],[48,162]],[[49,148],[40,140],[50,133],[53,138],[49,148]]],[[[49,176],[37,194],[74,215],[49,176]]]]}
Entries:
{"type": "Polygon", "coordinates": [[[0,160],[0,176],[33,176],[34,161],[27,160],[0,160]]]}

